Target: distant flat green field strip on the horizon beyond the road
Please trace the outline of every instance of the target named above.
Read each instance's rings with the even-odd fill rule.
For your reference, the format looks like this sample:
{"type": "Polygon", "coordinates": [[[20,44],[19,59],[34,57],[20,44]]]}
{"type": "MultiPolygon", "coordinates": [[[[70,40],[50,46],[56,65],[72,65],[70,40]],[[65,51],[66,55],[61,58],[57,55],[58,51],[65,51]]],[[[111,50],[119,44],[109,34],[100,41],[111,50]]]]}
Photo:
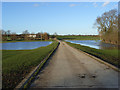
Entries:
{"type": "Polygon", "coordinates": [[[99,40],[100,37],[95,36],[57,36],[59,40],[99,40]]]}

